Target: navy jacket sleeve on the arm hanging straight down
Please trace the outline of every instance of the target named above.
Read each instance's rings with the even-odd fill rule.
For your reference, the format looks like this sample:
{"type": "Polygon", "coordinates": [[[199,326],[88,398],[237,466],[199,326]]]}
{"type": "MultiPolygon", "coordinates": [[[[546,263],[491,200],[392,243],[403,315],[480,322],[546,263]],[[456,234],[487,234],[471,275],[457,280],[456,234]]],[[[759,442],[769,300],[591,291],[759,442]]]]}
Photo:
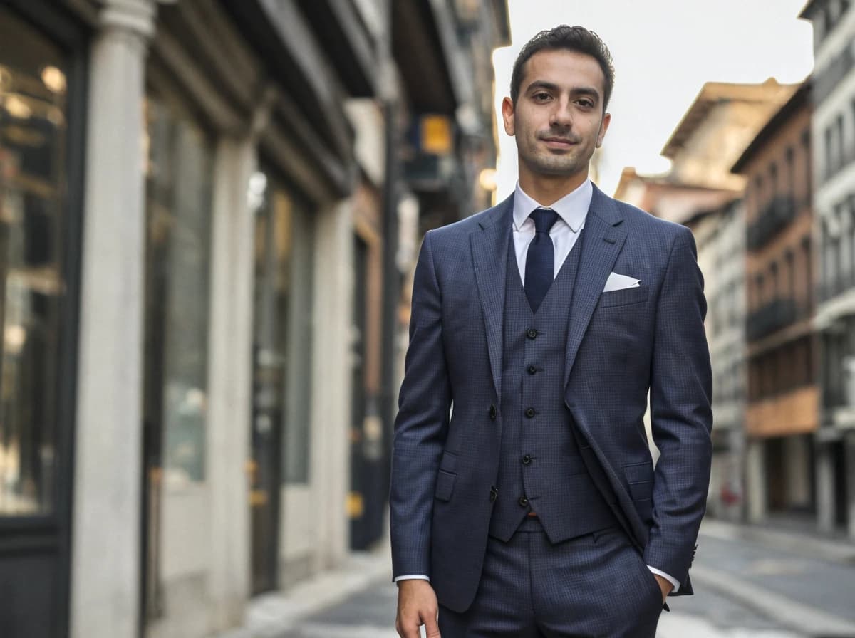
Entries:
{"type": "Polygon", "coordinates": [[[433,491],[448,432],[451,386],[442,342],[442,296],[425,235],[413,280],[410,347],[398,395],[389,495],[392,577],[430,577],[433,491]]]}

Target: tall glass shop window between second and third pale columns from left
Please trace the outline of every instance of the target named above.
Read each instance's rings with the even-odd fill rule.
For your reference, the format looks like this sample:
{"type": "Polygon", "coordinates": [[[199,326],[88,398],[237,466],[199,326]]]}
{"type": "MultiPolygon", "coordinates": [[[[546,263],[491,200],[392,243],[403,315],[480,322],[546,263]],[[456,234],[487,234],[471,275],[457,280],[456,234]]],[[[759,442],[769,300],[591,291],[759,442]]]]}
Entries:
{"type": "Polygon", "coordinates": [[[312,260],[310,215],[271,173],[256,207],[252,402],[252,588],[276,588],[280,490],[309,482],[312,260]]]}

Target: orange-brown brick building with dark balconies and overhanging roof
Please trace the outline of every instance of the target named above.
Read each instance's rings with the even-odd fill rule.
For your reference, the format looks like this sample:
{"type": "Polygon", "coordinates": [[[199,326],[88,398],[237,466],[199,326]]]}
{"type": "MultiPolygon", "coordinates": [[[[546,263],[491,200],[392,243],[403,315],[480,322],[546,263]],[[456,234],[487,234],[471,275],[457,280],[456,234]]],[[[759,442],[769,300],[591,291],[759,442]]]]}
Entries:
{"type": "Polygon", "coordinates": [[[813,518],[819,390],[811,103],[802,85],[735,162],[746,178],[748,519],[813,518]]]}

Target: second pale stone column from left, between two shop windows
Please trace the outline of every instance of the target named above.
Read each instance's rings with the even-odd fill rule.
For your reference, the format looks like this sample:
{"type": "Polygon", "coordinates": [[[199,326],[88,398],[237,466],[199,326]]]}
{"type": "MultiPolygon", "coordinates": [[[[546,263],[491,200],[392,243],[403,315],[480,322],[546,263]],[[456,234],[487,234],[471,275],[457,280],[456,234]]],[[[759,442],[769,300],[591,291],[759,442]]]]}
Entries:
{"type": "Polygon", "coordinates": [[[250,597],[253,233],[247,193],[253,138],[223,140],[215,163],[209,328],[209,594],[213,629],[239,625],[250,597]]]}

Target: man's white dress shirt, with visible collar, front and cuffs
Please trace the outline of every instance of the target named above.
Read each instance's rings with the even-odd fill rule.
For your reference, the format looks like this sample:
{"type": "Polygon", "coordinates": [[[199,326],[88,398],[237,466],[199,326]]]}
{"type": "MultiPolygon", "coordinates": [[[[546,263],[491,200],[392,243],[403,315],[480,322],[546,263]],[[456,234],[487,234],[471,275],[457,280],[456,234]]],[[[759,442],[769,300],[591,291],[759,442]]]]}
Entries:
{"type": "MultiPolygon", "coordinates": [[[[585,226],[585,218],[587,217],[588,208],[591,208],[592,197],[593,184],[591,184],[590,179],[586,179],[576,190],[563,196],[557,202],[552,202],[548,205],[535,202],[534,199],[520,188],[519,182],[516,183],[516,190],[514,190],[513,236],[514,249],[516,250],[516,265],[520,269],[522,282],[526,280],[528,244],[534,239],[534,219],[531,219],[528,215],[535,208],[551,208],[558,214],[558,219],[549,231],[552,246],[555,248],[555,268],[552,272],[552,278],[554,279],[558,276],[558,271],[561,270],[564,260],[567,259],[567,255],[570,254],[570,250],[573,249],[576,240],[579,238],[579,232],[585,226]]],[[[647,569],[674,585],[674,592],[680,589],[680,582],[676,578],[650,565],[647,565],[647,569]]],[[[429,581],[430,578],[422,574],[410,574],[395,578],[395,582],[406,580],[429,581]]]]}

